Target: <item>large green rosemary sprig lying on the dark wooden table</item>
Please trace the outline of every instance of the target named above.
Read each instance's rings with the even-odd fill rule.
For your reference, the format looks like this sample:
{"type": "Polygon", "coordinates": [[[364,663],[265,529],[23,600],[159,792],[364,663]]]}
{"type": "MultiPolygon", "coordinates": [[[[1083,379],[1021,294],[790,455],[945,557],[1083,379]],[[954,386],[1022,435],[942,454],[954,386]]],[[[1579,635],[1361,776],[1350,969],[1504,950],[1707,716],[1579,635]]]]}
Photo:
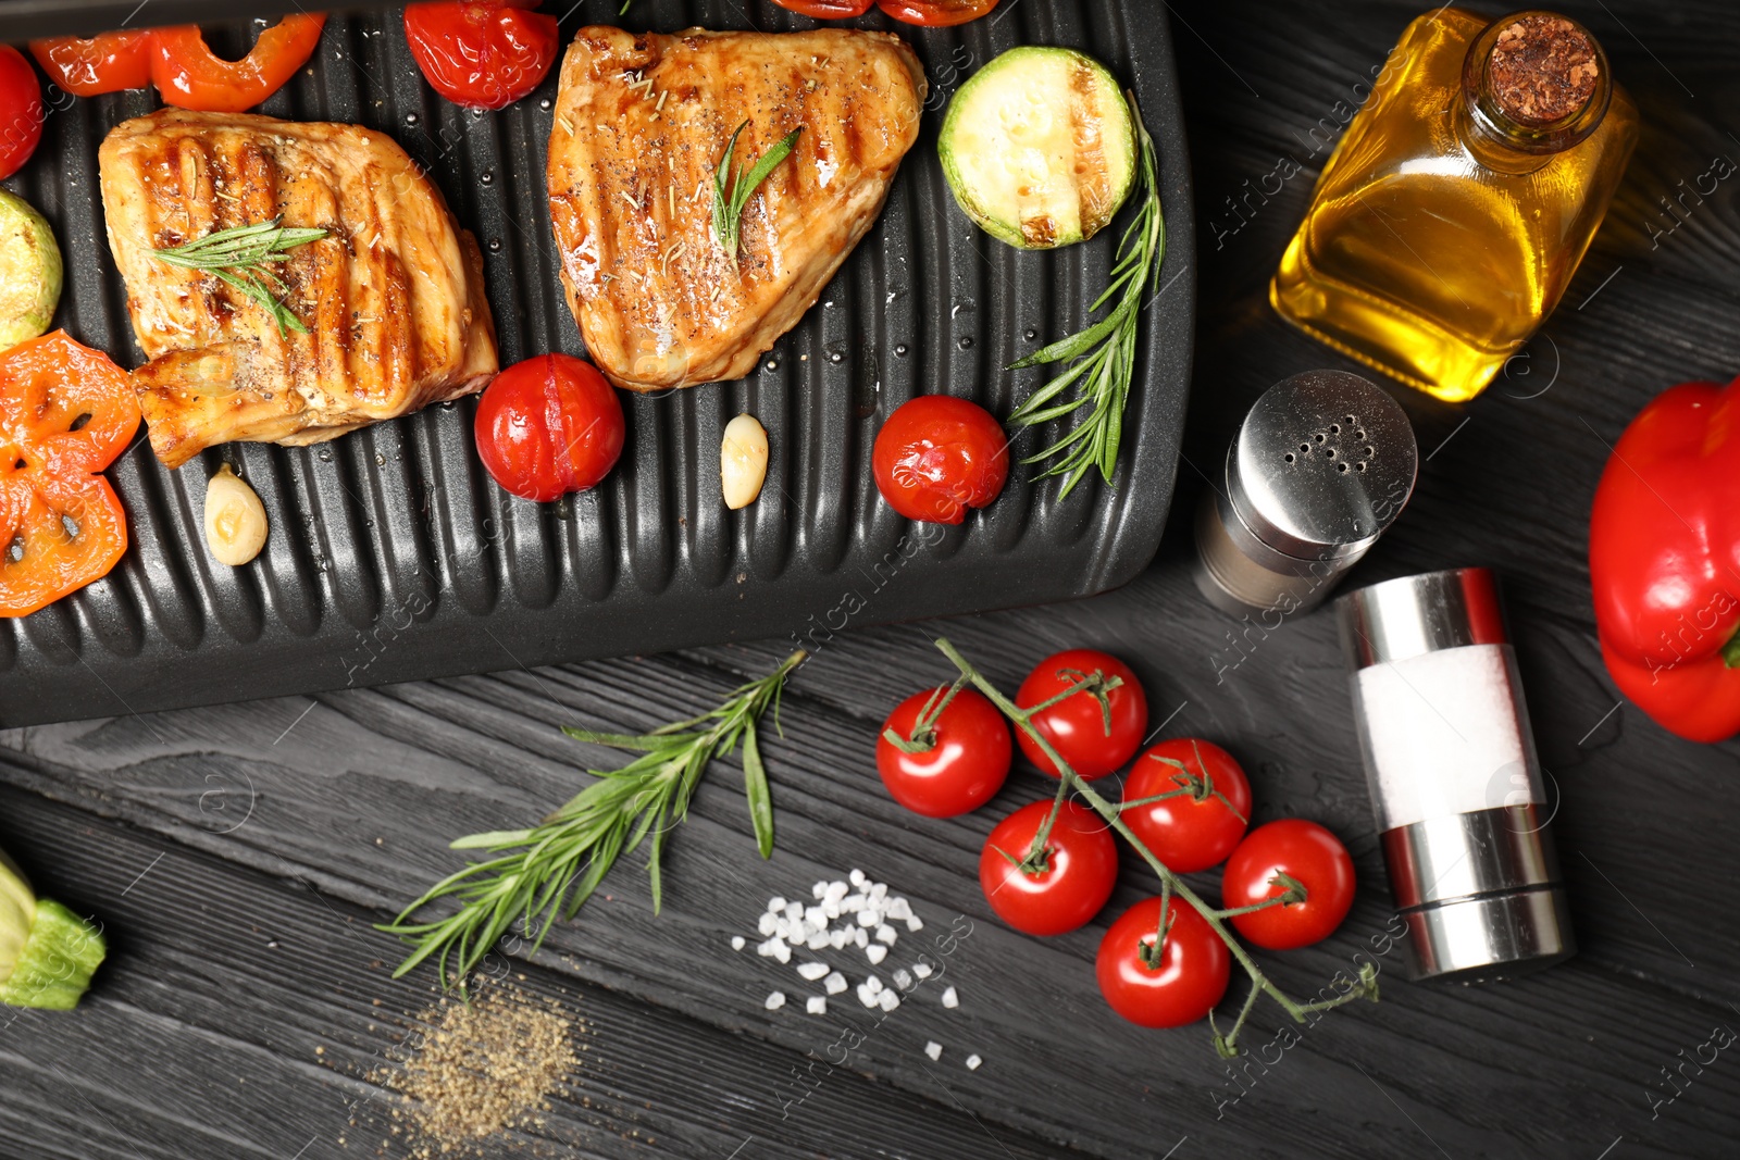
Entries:
{"type": "Polygon", "coordinates": [[[755,845],[762,857],[773,854],[773,798],[767,770],[755,739],[755,722],[767,706],[780,722],[780,692],[785,678],[804,661],[799,649],[767,677],[736,689],[715,710],[654,729],[642,736],[606,734],[588,729],[562,732],[618,750],[635,750],[642,757],[621,769],[586,770],[597,781],[574,795],[567,805],[531,830],[496,830],[473,833],[452,843],[456,850],[491,850],[496,857],[472,863],[437,882],[398,918],[378,929],[404,937],[414,950],[398,963],[400,977],[425,958],[435,958],[442,986],[465,977],[494,948],[496,941],[519,920],[532,953],[543,946],[557,920],[572,918],[599,889],[616,859],[652,837],[647,870],[652,878],[652,913],[661,903],[659,854],[665,835],[689,814],[689,800],[706,772],[708,762],[727,757],[743,743],[743,788],[755,845]],[[440,899],[456,899],[459,908],[445,918],[412,922],[412,917],[440,899]],[[532,936],[532,929],[538,934],[532,936]]]}

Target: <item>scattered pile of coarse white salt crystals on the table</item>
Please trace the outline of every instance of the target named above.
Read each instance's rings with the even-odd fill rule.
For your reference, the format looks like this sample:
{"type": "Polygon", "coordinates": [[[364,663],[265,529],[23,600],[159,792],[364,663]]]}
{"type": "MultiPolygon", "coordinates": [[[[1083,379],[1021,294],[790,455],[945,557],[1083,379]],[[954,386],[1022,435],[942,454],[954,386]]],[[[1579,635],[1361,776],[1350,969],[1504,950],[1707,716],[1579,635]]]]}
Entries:
{"type": "MultiPolygon", "coordinates": [[[[879,967],[900,941],[900,930],[894,923],[905,925],[908,934],[924,929],[924,920],[912,911],[912,903],[898,894],[889,894],[886,882],[872,882],[865,871],[853,870],[846,880],[813,885],[809,904],[785,896],[767,899],[767,910],[757,922],[764,941],[755,946],[755,953],[783,965],[792,962],[795,951],[818,953],[856,948],[865,953],[872,967],[879,967]]],[[[731,939],[731,950],[741,951],[745,946],[748,946],[748,939],[743,936],[731,939]]],[[[806,983],[821,983],[825,991],[804,998],[804,1010],[813,1016],[828,1014],[828,995],[839,995],[851,986],[844,972],[818,958],[800,962],[797,974],[806,983]]],[[[910,969],[896,967],[889,976],[893,979],[893,986],[889,986],[872,970],[853,991],[865,1007],[891,1012],[900,1007],[903,993],[917,988],[931,974],[929,963],[914,963],[910,969]]],[[[773,991],[764,1005],[767,1010],[780,1010],[785,1002],[785,991],[773,991]]],[[[943,1007],[960,1005],[954,986],[943,991],[941,1002],[943,1007]]],[[[926,1043],[924,1054],[938,1059],[943,1049],[933,1040],[926,1043]]],[[[969,1056],[967,1066],[978,1070],[980,1057],[969,1056]]]]}

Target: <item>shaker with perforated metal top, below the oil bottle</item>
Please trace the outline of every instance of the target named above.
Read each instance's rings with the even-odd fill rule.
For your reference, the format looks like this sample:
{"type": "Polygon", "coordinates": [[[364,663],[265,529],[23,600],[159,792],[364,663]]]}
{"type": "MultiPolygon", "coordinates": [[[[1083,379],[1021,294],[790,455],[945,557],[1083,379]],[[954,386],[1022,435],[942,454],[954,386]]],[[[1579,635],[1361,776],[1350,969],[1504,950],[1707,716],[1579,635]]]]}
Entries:
{"type": "Polygon", "coordinates": [[[1275,383],[1197,508],[1197,588],[1232,616],[1317,607],[1401,515],[1418,459],[1408,416],[1369,379],[1275,383]]]}

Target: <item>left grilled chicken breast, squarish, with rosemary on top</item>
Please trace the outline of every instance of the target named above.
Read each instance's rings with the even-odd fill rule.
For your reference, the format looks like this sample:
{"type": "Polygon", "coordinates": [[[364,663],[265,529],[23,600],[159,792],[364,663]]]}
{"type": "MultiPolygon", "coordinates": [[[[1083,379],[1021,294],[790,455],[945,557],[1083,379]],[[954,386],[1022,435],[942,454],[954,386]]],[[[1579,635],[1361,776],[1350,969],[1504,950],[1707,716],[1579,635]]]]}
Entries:
{"type": "Polygon", "coordinates": [[[134,386],[169,466],[228,440],[317,443],[496,372],[477,242],[386,134],[160,110],[117,125],[99,162],[110,249],[150,358],[134,386]],[[270,266],[308,334],[151,254],[275,217],[327,230],[270,266]]]}

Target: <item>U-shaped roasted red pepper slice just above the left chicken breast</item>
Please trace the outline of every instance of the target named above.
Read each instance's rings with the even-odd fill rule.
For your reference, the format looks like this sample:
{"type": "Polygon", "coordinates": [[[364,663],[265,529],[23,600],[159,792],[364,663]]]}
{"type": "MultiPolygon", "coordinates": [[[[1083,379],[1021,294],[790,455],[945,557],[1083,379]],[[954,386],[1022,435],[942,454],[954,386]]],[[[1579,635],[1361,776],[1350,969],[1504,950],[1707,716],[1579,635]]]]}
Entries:
{"type": "Polygon", "coordinates": [[[216,56],[198,24],[151,30],[151,82],[167,104],[205,113],[251,110],[296,75],[315,45],[325,14],[285,16],[259,33],[240,61],[216,56]]]}

